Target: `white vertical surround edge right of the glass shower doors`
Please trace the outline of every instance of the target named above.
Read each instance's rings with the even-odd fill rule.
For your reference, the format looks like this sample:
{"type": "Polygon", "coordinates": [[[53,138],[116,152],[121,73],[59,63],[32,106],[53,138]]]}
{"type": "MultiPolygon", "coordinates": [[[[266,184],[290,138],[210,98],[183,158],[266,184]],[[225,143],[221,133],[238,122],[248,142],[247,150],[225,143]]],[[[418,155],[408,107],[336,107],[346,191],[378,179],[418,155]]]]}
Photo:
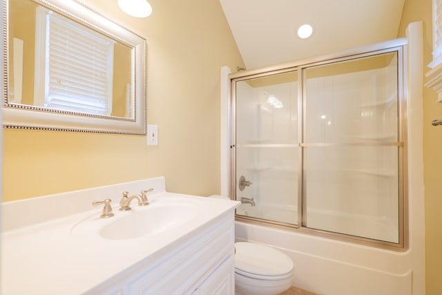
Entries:
{"type": "MultiPolygon", "coordinates": [[[[425,294],[425,207],[423,185],[423,23],[407,28],[408,227],[413,293],[425,294]]],[[[407,256],[408,256],[407,255],[407,256]]]]}

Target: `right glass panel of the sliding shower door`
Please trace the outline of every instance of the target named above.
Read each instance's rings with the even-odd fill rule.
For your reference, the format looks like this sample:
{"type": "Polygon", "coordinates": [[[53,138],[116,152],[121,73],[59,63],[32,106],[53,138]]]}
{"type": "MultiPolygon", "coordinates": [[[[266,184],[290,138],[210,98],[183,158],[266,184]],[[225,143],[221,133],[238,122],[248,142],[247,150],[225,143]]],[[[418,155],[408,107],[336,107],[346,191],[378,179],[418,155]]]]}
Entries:
{"type": "Polygon", "coordinates": [[[303,226],[399,242],[398,54],[303,69],[303,226]]]}

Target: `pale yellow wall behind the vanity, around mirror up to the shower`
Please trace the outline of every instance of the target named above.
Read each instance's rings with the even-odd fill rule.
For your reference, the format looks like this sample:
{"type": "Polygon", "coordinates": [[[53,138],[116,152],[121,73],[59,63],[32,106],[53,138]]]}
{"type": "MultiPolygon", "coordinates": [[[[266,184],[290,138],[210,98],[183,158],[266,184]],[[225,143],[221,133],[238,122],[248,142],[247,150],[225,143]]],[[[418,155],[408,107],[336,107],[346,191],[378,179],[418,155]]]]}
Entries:
{"type": "MultiPolygon", "coordinates": [[[[220,193],[220,67],[244,66],[218,0],[151,1],[146,19],[117,1],[83,0],[148,42],[145,136],[3,131],[3,201],[166,177],[166,189],[220,193]]],[[[118,200],[120,196],[97,196],[118,200]]]]}

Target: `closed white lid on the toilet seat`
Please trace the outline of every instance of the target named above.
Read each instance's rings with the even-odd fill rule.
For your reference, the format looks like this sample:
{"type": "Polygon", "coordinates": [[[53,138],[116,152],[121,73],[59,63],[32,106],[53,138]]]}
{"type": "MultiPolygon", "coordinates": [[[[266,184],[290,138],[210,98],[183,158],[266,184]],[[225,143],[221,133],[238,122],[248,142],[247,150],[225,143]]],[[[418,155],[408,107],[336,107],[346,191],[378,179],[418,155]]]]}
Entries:
{"type": "Polygon", "coordinates": [[[289,256],[272,247],[253,242],[235,243],[235,268],[260,276],[282,276],[293,271],[289,256]]]}

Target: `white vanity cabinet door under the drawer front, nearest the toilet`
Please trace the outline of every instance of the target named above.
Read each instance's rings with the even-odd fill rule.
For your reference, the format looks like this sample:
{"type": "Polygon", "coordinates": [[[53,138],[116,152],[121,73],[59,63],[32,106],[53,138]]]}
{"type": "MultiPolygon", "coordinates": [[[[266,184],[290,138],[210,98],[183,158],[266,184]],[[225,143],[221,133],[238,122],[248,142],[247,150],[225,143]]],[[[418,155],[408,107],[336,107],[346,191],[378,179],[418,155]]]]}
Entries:
{"type": "Polygon", "coordinates": [[[235,259],[231,255],[193,292],[192,295],[235,294],[235,259]]]}

